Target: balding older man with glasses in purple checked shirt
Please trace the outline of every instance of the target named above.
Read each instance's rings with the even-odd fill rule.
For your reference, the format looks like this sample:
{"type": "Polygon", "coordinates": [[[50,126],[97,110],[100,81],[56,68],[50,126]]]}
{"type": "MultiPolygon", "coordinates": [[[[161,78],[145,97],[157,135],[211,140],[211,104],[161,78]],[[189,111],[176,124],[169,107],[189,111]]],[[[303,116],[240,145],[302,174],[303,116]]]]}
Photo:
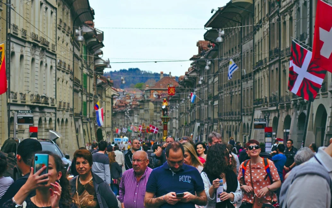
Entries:
{"type": "Polygon", "coordinates": [[[124,172],[119,185],[118,199],[122,208],[144,207],[146,183],[152,172],[147,167],[149,159],[145,151],[135,151],[131,161],[133,168],[124,172]]]}

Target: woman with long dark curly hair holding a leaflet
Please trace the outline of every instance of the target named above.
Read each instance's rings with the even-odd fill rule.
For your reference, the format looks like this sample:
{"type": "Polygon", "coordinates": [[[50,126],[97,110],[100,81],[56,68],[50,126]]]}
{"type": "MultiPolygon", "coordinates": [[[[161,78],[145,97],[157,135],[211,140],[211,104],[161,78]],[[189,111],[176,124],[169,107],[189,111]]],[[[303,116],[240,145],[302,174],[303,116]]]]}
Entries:
{"type": "Polygon", "coordinates": [[[208,149],[207,161],[201,173],[208,201],[205,208],[233,208],[241,202],[242,192],[231,158],[232,154],[225,144],[215,144],[208,149]],[[216,203],[216,190],[221,179],[224,191],[219,196],[221,202],[216,203]]]}

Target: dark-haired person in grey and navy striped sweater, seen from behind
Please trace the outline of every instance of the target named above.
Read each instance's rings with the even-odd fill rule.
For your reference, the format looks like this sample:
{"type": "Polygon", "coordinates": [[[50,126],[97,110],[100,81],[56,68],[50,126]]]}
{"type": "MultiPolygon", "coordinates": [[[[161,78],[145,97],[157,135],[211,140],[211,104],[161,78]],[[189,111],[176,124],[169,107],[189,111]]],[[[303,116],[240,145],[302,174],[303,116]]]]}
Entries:
{"type": "Polygon", "coordinates": [[[105,155],[106,148],[107,142],[100,141],[98,144],[99,151],[92,154],[92,171],[94,174],[103,179],[107,184],[111,185],[110,159],[105,155]]]}

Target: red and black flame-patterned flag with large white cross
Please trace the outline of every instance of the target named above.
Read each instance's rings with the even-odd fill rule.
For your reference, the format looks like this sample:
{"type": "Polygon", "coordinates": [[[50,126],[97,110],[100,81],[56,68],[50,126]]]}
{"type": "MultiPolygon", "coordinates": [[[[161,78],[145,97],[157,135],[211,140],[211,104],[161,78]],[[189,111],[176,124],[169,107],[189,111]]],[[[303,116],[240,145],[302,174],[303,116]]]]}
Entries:
{"type": "Polygon", "coordinates": [[[288,89],[313,101],[322,86],[326,70],[311,61],[312,53],[292,41],[288,89]]]}

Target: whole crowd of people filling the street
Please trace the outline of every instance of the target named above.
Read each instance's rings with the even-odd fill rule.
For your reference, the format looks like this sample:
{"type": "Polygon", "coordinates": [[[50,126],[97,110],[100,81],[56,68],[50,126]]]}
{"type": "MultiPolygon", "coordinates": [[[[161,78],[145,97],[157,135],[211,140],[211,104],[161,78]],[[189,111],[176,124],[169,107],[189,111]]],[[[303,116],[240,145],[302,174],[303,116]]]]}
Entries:
{"type": "Polygon", "coordinates": [[[297,150],[291,139],[286,146],[276,140],[268,153],[256,140],[241,146],[216,132],[196,144],[188,136],[114,147],[100,141],[75,151],[68,180],[58,155],[25,139],[16,155],[23,177],[15,182],[3,177],[8,163],[0,152],[0,208],[116,208],[118,200],[122,208],[328,208],[331,143],[297,150]],[[36,153],[49,155],[38,171],[36,153]]]}

